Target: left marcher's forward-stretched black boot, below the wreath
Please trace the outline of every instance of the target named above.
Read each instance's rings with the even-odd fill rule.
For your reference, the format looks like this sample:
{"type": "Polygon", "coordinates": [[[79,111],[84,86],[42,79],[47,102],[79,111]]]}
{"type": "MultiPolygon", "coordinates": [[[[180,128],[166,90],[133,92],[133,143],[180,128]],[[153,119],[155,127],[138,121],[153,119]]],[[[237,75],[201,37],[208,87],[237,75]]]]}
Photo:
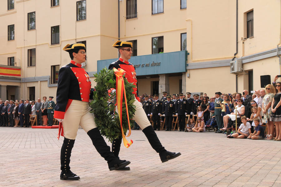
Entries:
{"type": "MultiPolygon", "coordinates": [[[[103,137],[101,136],[98,128],[93,128],[87,132],[91,138],[93,145],[96,147],[96,150],[100,155],[107,161],[109,170],[119,170],[124,168],[126,165],[129,165],[131,162],[126,160],[120,160],[110,151],[110,147],[106,144],[103,137]]],[[[120,146],[119,146],[120,147],[120,146]]]]}

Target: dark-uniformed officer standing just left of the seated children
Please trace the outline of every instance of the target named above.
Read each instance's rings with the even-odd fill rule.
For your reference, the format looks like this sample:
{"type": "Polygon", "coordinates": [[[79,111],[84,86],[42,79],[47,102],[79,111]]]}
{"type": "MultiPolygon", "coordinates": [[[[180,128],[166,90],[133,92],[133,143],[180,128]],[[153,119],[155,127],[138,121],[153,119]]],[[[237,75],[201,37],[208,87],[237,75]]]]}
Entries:
{"type": "Polygon", "coordinates": [[[183,98],[183,93],[179,93],[180,98],[175,101],[175,113],[179,120],[179,131],[185,131],[185,115],[187,114],[186,103],[187,100],[183,98]]]}

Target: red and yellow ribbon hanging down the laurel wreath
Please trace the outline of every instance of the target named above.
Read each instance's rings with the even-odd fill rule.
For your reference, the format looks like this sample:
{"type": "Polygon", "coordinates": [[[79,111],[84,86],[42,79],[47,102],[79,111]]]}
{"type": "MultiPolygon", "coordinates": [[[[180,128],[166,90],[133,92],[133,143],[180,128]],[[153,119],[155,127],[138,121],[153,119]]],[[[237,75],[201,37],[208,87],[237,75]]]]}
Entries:
{"type": "Polygon", "coordinates": [[[122,70],[121,68],[113,68],[114,74],[116,75],[116,100],[117,100],[117,109],[119,114],[119,121],[121,126],[121,132],[123,137],[123,143],[126,148],[129,148],[133,141],[131,140],[128,142],[126,140],[126,137],[129,137],[131,135],[131,126],[130,126],[130,119],[129,119],[129,113],[128,113],[128,105],[127,105],[127,98],[126,98],[126,90],[125,90],[125,84],[123,75],[126,73],[126,71],[122,70]],[[125,136],[123,127],[122,127],[122,102],[123,102],[123,93],[124,93],[124,100],[126,104],[126,113],[127,113],[127,119],[128,119],[128,126],[129,126],[129,133],[127,136],[125,136]]]}

